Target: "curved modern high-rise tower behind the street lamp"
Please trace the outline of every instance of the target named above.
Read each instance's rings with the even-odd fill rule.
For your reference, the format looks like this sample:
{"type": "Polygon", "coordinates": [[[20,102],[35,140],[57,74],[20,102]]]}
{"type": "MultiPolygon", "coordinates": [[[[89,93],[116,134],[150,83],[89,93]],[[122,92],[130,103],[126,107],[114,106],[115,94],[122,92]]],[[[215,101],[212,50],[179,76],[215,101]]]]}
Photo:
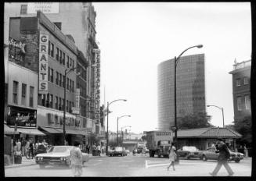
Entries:
{"type": "MultiPolygon", "coordinates": [[[[158,65],[158,128],[174,125],[174,59],[158,65]]],[[[183,56],[176,74],[177,118],[205,112],[204,54],[183,56]]]]}

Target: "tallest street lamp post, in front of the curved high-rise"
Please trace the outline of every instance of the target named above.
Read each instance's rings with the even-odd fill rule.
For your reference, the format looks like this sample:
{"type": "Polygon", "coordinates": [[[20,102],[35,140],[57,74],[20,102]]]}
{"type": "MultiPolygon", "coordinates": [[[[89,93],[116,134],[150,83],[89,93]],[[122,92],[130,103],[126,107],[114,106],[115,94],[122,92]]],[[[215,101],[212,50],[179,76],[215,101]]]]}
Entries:
{"type": "MultiPolygon", "coordinates": [[[[178,65],[178,60],[180,59],[180,57],[182,56],[182,54],[189,50],[190,48],[202,48],[203,47],[203,44],[197,44],[195,46],[192,46],[192,47],[189,47],[189,48],[186,48],[186,50],[182,51],[182,53],[180,55],[178,55],[178,58],[176,58],[175,56],[175,143],[177,143],[177,130],[178,130],[178,127],[177,127],[177,105],[176,105],[176,68],[177,68],[177,65],[178,65]]],[[[176,145],[177,147],[177,145],[176,145]]]]}

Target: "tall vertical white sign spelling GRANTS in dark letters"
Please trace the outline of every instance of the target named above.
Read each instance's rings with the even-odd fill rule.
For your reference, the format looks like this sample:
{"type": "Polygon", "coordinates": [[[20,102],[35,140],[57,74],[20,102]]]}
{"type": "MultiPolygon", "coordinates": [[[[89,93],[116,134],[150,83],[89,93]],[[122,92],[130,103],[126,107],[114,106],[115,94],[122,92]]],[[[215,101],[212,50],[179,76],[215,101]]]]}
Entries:
{"type": "Polygon", "coordinates": [[[48,92],[48,44],[49,35],[40,32],[39,37],[39,94],[48,92]]]}

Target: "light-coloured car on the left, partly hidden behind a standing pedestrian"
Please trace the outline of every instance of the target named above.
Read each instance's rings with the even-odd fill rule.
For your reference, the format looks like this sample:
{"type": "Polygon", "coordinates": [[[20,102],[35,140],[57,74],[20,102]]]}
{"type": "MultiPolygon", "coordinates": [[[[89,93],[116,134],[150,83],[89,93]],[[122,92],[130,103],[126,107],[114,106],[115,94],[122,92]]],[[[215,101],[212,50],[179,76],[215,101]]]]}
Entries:
{"type": "MultiPolygon", "coordinates": [[[[70,150],[74,146],[52,146],[47,153],[37,154],[35,162],[40,169],[45,168],[46,165],[70,165],[70,150]]],[[[82,163],[88,161],[88,154],[82,153],[82,163]]]]}

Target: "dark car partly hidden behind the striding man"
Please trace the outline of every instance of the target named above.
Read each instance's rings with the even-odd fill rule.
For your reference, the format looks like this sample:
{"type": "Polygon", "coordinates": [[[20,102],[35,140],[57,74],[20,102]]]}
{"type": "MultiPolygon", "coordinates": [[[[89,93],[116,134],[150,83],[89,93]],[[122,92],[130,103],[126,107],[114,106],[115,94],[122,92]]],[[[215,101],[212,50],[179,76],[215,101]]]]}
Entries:
{"type": "MultiPolygon", "coordinates": [[[[233,152],[230,151],[230,157],[229,157],[229,161],[235,161],[236,163],[239,163],[240,160],[243,159],[243,154],[239,153],[239,152],[233,152]]],[[[203,161],[207,161],[207,160],[218,160],[218,151],[216,149],[216,147],[209,147],[207,148],[206,151],[202,151],[200,153],[200,159],[202,159],[203,161]]]]}

